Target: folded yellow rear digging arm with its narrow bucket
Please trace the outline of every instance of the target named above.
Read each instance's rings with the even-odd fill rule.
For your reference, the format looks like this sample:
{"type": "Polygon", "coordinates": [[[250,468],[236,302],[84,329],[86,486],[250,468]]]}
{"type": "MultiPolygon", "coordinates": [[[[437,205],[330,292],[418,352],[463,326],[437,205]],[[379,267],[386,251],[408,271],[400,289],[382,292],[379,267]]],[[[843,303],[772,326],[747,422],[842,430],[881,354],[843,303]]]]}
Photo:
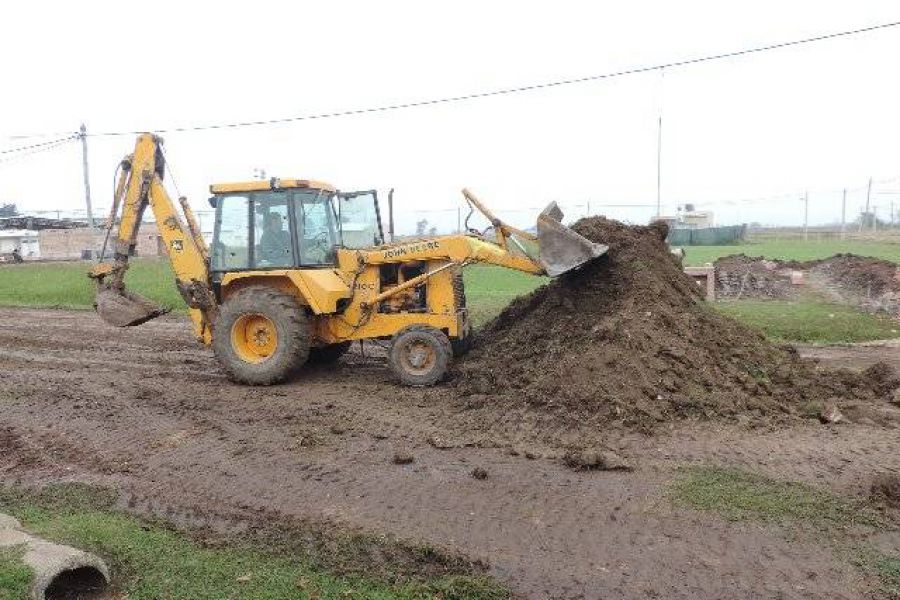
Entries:
{"type": "Polygon", "coordinates": [[[134,154],[126,157],[120,168],[106,223],[107,241],[100,262],[89,274],[97,282],[97,312],[104,321],[118,327],[139,325],[168,312],[125,289],[129,258],[134,253],[141,220],[149,206],[175,271],[176,286],[189,307],[194,333],[208,343],[216,312],[215,296],[209,288],[208,250],[187,200],[180,199],[182,219],[163,185],[162,139],[149,133],[138,136],[134,154]],[[111,261],[106,258],[110,251],[111,261]]]}

